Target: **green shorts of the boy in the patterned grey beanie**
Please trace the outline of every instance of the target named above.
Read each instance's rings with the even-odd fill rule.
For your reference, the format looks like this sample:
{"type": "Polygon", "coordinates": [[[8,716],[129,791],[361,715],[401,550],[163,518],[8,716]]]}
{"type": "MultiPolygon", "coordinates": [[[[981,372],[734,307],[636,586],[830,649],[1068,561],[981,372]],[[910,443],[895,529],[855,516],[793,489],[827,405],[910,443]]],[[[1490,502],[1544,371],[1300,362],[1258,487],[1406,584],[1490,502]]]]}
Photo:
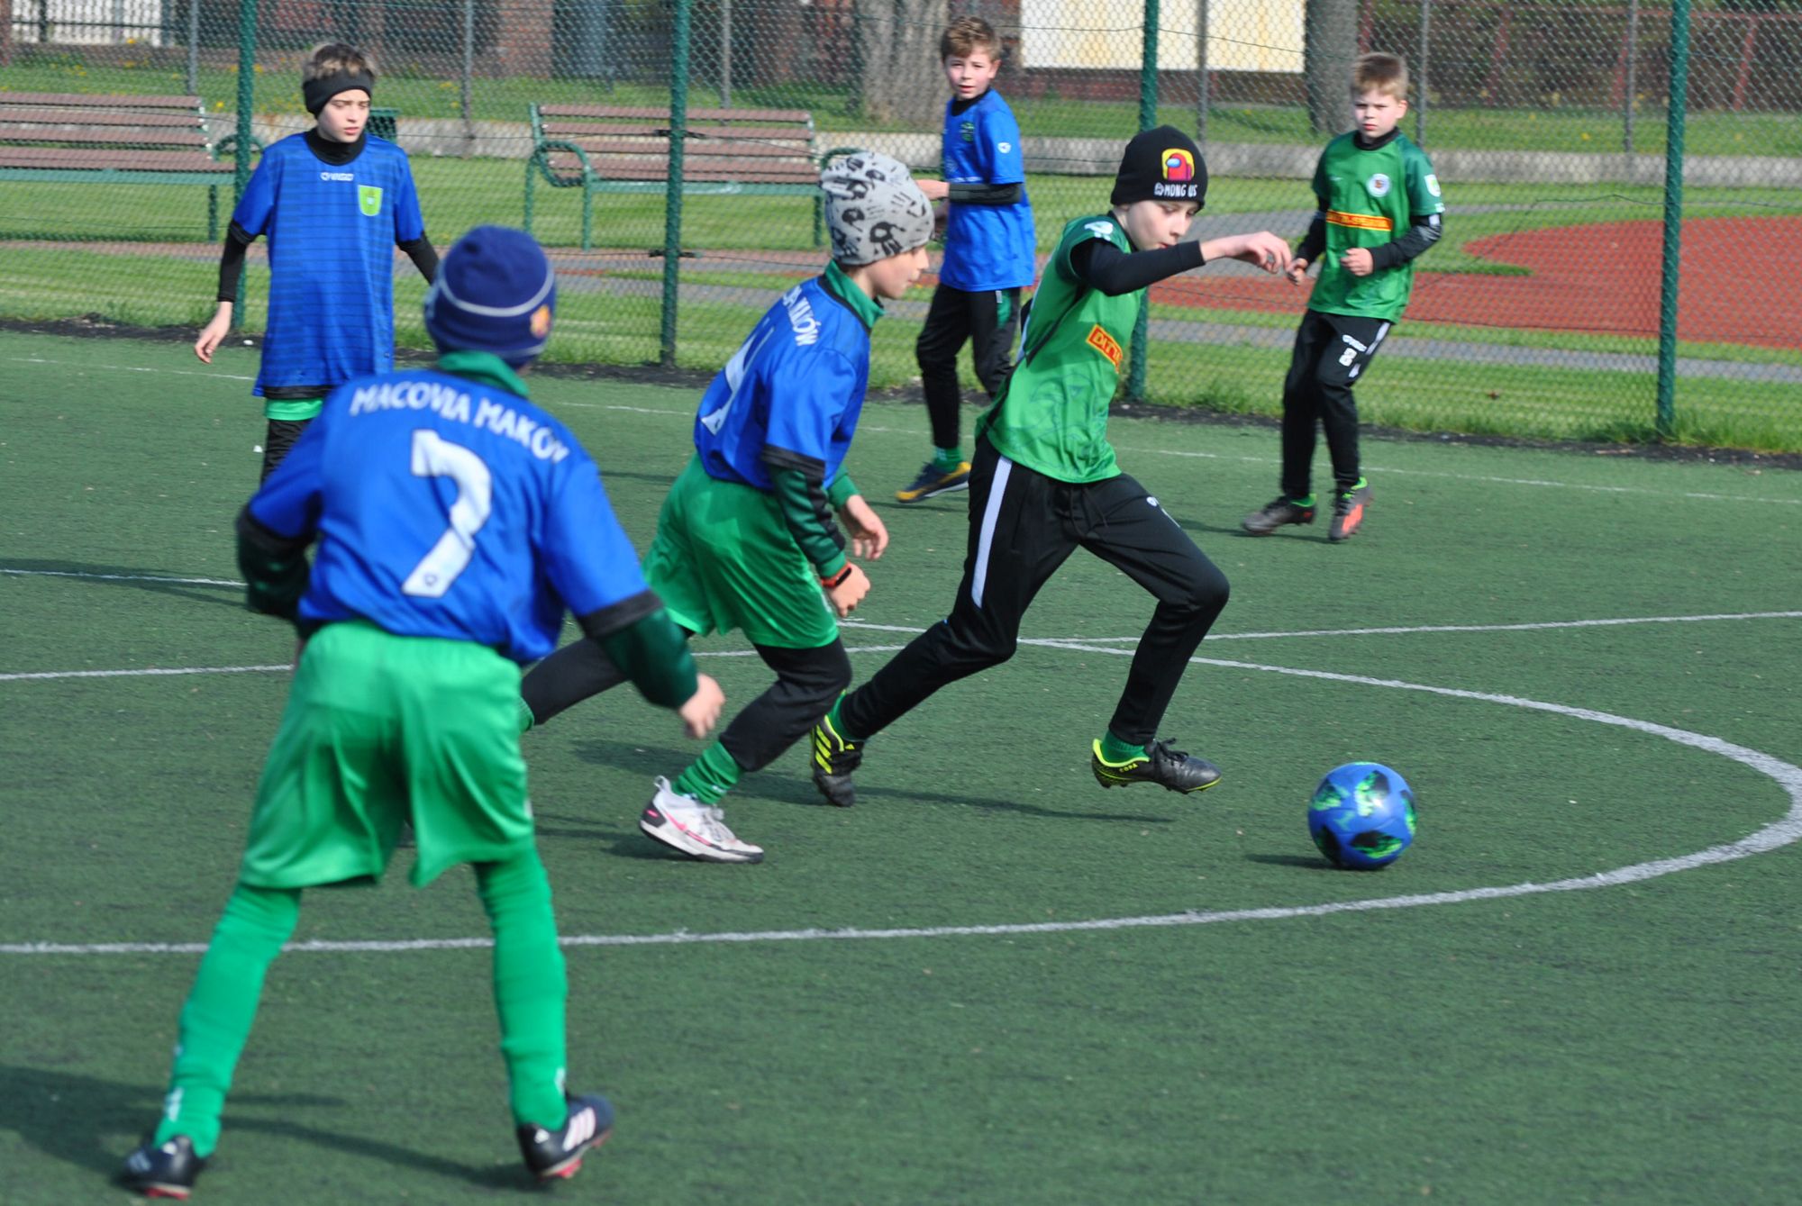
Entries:
{"type": "Polygon", "coordinates": [[[755,644],[816,650],[838,639],[813,565],[777,499],[688,461],[658,515],[645,581],[670,619],[703,635],[737,628],[755,644]]]}

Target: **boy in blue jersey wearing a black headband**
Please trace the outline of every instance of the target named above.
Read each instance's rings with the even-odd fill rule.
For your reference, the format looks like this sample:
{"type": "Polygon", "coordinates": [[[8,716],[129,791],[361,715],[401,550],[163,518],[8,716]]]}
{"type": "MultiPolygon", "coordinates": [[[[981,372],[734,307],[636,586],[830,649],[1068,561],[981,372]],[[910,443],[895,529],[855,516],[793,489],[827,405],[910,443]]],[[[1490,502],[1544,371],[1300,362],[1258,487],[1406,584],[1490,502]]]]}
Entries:
{"type": "Polygon", "coordinates": [[[268,329],[250,392],[263,400],[267,481],[321,400],[353,376],[395,364],[395,252],[427,281],[438,252],[425,238],[407,153],[368,131],[375,65],[355,47],[328,43],[301,72],[306,112],[319,124],[263,151],[225,232],[218,311],[195,355],[231,333],[245,248],[268,238],[268,329]]]}

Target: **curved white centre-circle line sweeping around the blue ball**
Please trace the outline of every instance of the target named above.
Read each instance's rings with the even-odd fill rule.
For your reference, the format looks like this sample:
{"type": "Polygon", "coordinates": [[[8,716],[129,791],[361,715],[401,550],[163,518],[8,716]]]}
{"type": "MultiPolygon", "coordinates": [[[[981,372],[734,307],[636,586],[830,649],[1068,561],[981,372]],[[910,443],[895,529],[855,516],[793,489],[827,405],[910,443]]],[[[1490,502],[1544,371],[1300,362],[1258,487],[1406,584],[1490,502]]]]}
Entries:
{"type": "MultiPolygon", "coordinates": [[[[1088,653],[1114,653],[1121,657],[1126,655],[1126,650],[1092,646],[1092,644],[1070,643],[1063,644],[1061,648],[1081,650],[1088,653]]],[[[560,938],[559,941],[564,947],[669,947],[669,945],[692,945],[692,943],[764,943],[764,941],[829,941],[829,940],[847,941],[847,940],[894,940],[894,938],[1070,934],[1070,932],[1088,932],[1088,931],[1213,925],[1220,922],[1279,922],[1287,918],[1303,918],[1303,916],[1373,913],[1380,909],[1420,909],[1425,905],[1469,904],[1472,900],[1506,900],[1512,896],[1535,896],[1541,893],[1618,887],[1622,884],[1636,884],[1640,880],[1651,880],[1661,875],[1672,875],[1676,871],[1690,871],[1694,868],[1703,868],[1716,862],[1732,862],[1735,859],[1746,859],[1750,855],[1777,850],[1780,846],[1795,842],[1797,839],[1802,839],[1802,767],[1782,761],[1779,758],[1771,758],[1770,754],[1748,749],[1744,745],[1734,745],[1732,742],[1723,742],[1721,738],[1706,736],[1701,733],[1688,733],[1685,729],[1672,729],[1661,724],[1651,724],[1647,720],[1634,720],[1631,716],[1616,716],[1613,713],[1593,711],[1589,707],[1568,707],[1564,704],[1546,704],[1541,700],[1521,698],[1517,695],[1492,695],[1487,691],[1463,691],[1456,688],[1436,688],[1420,682],[1402,682],[1398,679],[1368,679],[1362,675],[1341,675],[1323,670],[1294,670],[1288,666],[1260,666],[1254,662],[1229,662],[1209,657],[1195,657],[1191,661],[1209,666],[1229,666],[1236,670],[1265,670],[1270,673],[1294,675],[1301,679],[1326,679],[1332,682],[1352,682],[1359,686],[1391,688],[1398,691],[1424,691],[1429,695],[1443,695],[1449,698],[1478,700],[1485,704],[1503,704],[1508,707],[1528,707],[1534,711],[1573,716],[1577,720],[1591,720],[1595,724],[1607,724],[1622,729],[1633,729],[1636,733],[1647,733],[1652,736],[1661,736],[1669,742],[1678,742],[1679,745],[1690,745],[1708,754],[1719,754],[1723,758],[1730,758],[1741,765],[1757,770],[1759,774],[1770,776],[1789,796],[1789,810],[1780,819],[1734,842],[1710,846],[1706,850],[1697,850],[1696,853],[1679,855],[1676,859],[1656,859],[1651,862],[1636,862],[1631,866],[1615,868],[1611,871],[1597,871],[1595,875],[1580,875],[1573,878],[1552,880],[1548,884],[1526,882],[1526,884],[1506,884],[1499,887],[1465,887],[1458,891],[1420,893],[1411,896],[1382,896],[1377,900],[1341,900],[1341,902],[1312,904],[1312,905],[1272,905],[1263,909],[1218,909],[1218,911],[1191,909],[1186,913],[1094,918],[1085,922],[1022,922],[1022,923],[1004,923],[1004,925],[921,925],[908,929],[809,927],[809,929],[780,929],[780,931],[721,931],[721,932],[699,932],[699,934],[688,931],[674,931],[667,934],[569,934],[560,938]]],[[[411,940],[393,940],[393,941],[315,940],[315,941],[290,943],[287,950],[314,952],[314,954],[337,954],[337,952],[389,954],[389,952],[409,952],[409,950],[483,950],[492,945],[494,945],[492,938],[411,938],[411,940]]],[[[157,941],[0,943],[0,954],[27,954],[27,956],[29,954],[70,954],[70,956],[200,954],[204,950],[205,943],[157,943],[157,941]]]]}

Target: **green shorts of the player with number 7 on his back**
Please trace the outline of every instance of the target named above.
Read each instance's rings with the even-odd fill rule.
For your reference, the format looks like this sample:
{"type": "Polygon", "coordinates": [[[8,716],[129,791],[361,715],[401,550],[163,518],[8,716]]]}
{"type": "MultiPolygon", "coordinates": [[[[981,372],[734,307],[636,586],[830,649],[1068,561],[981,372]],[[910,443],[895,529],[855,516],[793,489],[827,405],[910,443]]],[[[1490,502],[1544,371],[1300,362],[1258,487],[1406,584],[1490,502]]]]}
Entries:
{"type": "Polygon", "coordinates": [[[238,878],[380,878],[404,821],[420,887],[530,848],[517,707],[519,666],[487,646],[326,625],[294,671],[238,878]]]}

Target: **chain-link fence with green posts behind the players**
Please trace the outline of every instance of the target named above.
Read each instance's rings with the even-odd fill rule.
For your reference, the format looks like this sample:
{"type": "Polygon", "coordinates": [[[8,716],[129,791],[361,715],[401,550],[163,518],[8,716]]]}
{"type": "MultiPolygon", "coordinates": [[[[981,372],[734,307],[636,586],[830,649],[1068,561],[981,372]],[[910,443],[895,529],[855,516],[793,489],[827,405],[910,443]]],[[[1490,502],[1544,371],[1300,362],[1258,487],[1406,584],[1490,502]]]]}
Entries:
{"type": "MultiPolygon", "coordinates": [[[[1359,385],[1366,418],[1802,450],[1802,284],[1766,266],[1802,234],[1802,0],[1716,0],[1687,23],[1633,0],[0,0],[0,317],[198,328],[240,97],[256,144],[306,130],[299,65],[342,40],[380,67],[371,128],[409,151],[431,238],[497,221],[551,248],[553,358],[717,367],[824,259],[811,164],[867,146],[937,171],[937,40],[966,11],[1006,43],[995,86],[1024,131],[1042,256],[1106,207],[1121,146],[1151,119],[1206,151],[1200,238],[1299,238],[1319,151],[1350,126],[1350,63],[1393,50],[1413,68],[1402,130],[1447,220],[1359,385]],[[1688,76],[1679,259],[1672,63],[1688,76]],[[175,99],[121,148],[72,94],[175,99]],[[211,166],[150,178],[135,157],[151,151],[211,166]],[[1681,288],[1660,423],[1667,257],[1681,288]]],[[[258,247],[252,331],[263,263],[258,247]]],[[[404,257],[396,283],[396,337],[423,347],[404,257]]],[[[878,326],[876,387],[917,378],[924,301],[878,326]]],[[[1233,263],[1155,286],[1133,387],[1274,414],[1305,306],[1306,286],[1233,263]]]]}

